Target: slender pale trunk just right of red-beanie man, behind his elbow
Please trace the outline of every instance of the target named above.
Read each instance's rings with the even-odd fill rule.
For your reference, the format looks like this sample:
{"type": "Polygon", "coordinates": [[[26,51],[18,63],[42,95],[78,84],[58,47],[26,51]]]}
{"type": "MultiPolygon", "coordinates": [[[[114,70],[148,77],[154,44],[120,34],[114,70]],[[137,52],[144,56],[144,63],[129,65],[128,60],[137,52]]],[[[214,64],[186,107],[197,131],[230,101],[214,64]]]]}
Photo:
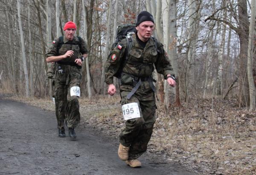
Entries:
{"type": "MultiPolygon", "coordinates": [[[[88,43],[87,40],[87,21],[86,21],[86,11],[85,11],[85,5],[84,0],[82,0],[82,6],[83,6],[83,16],[84,16],[84,40],[86,43],[88,43]]],[[[86,75],[87,75],[87,90],[88,90],[88,98],[91,99],[92,92],[90,88],[90,69],[89,69],[89,60],[88,57],[85,59],[85,65],[86,65],[86,75]]]]}

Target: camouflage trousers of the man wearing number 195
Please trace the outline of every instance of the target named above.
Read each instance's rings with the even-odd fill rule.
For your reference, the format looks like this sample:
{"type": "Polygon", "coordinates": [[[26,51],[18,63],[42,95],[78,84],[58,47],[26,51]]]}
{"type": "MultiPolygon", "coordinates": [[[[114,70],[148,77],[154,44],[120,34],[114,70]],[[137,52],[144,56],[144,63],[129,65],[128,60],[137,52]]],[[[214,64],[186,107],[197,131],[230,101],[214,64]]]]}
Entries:
{"type": "Polygon", "coordinates": [[[155,123],[154,92],[147,83],[143,83],[129,100],[126,96],[133,87],[120,86],[121,104],[137,102],[140,109],[140,118],[126,120],[125,129],[119,135],[119,142],[123,146],[130,146],[128,160],[139,158],[147,150],[155,123]]]}

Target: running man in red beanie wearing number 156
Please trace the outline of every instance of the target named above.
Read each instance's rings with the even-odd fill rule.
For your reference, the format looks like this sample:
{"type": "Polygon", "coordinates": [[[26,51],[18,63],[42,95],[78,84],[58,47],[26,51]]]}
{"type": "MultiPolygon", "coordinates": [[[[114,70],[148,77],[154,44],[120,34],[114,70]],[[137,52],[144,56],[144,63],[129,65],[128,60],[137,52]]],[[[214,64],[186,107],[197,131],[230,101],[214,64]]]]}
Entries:
{"type": "Polygon", "coordinates": [[[55,62],[55,113],[58,136],[66,137],[64,123],[67,122],[71,140],[76,139],[75,128],[80,122],[79,101],[81,66],[88,55],[87,45],[81,37],[75,36],[76,24],[64,25],[64,37],[52,41],[46,53],[46,61],[55,62]]]}

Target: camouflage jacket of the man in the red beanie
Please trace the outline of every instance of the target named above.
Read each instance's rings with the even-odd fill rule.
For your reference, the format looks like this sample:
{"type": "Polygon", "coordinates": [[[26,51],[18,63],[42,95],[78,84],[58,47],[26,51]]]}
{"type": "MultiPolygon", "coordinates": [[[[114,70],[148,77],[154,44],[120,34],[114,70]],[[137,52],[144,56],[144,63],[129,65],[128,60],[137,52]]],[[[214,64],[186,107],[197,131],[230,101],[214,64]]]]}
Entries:
{"type": "MultiPolygon", "coordinates": [[[[74,55],[72,57],[64,58],[63,60],[58,61],[58,63],[62,64],[74,64],[74,61],[76,58],[79,57],[79,54],[87,54],[87,45],[84,42],[83,39],[81,39],[81,50],[79,48],[79,39],[78,37],[74,36],[72,41],[67,40],[66,37],[63,37],[63,44],[61,45],[61,48],[58,49],[58,43],[59,38],[56,38],[52,42],[52,46],[49,48],[49,51],[46,53],[46,57],[50,56],[58,56],[58,55],[64,55],[68,50],[73,50],[74,55]]],[[[74,64],[76,65],[76,64],[74,64]]]]}

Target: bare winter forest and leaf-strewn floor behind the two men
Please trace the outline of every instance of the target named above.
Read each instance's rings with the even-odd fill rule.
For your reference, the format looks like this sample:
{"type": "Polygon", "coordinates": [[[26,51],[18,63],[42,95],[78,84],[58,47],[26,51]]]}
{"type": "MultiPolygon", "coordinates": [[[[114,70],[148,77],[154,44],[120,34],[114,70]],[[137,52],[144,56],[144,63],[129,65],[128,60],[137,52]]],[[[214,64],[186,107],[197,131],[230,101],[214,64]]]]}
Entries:
{"type": "MultiPolygon", "coordinates": [[[[82,66],[81,101],[96,103],[95,99],[106,98],[114,104],[119,99],[106,95],[104,63],[117,26],[135,23],[140,11],[149,11],[155,19],[154,37],[163,43],[177,77],[177,86],[171,88],[154,72],[160,115],[155,134],[169,133],[160,133],[163,142],[176,146],[190,164],[202,164],[200,155],[214,154],[217,158],[205,163],[211,168],[201,172],[255,172],[255,156],[247,155],[256,155],[256,144],[252,146],[256,136],[255,0],[0,0],[0,6],[1,93],[25,101],[51,98],[45,53],[72,20],[76,34],[89,48],[82,66]],[[195,158],[193,146],[196,152],[209,149],[204,147],[206,140],[214,146],[195,158]],[[245,146],[230,148],[234,140],[245,146]],[[221,158],[230,152],[241,162],[221,158]]],[[[164,150],[173,152],[173,148],[164,150]]]]}

